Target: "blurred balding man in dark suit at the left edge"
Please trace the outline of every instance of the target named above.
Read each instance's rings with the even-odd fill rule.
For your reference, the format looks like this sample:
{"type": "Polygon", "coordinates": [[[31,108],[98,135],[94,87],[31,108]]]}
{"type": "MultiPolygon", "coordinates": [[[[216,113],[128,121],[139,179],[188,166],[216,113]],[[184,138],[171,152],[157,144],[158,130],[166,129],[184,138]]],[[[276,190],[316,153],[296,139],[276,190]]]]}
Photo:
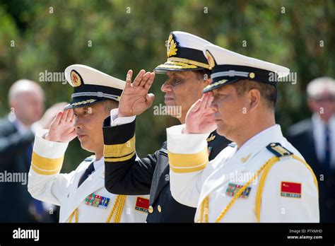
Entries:
{"type": "Polygon", "coordinates": [[[52,106],[43,115],[42,88],[24,79],[11,86],[8,105],[11,111],[0,119],[0,222],[58,221],[56,208],[33,199],[27,182],[35,131],[49,127],[66,103],[52,106]]]}

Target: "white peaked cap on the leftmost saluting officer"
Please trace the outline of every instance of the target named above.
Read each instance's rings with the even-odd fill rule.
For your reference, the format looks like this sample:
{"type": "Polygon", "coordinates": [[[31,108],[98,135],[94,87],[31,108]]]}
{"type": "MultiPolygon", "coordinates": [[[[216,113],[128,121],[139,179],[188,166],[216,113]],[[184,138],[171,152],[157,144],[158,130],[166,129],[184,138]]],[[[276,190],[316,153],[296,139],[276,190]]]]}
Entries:
{"type": "Polygon", "coordinates": [[[68,66],[64,73],[66,81],[74,88],[72,100],[65,109],[93,105],[108,99],[119,101],[126,84],[125,81],[81,64],[68,66]]]}

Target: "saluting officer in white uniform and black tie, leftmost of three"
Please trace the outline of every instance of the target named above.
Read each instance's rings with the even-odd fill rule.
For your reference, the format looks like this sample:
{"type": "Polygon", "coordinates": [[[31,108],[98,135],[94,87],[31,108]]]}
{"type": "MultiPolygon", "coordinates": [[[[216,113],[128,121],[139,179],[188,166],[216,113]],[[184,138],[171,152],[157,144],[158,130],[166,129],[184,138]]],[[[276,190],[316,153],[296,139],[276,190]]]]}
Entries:
{"type": "MultiPolygon", "coordinates": [[[[72,101],[49,130],[35,137],[28,178],[30,194],[61,207],[59,222],[145,222],[148,196],[110,194],[105,189],[102,122],[118,106],[124,81],[84,65],[65,69],[72,101]],[[69,141],[94,153],[76,170],[60,173],[69,141]]],[[[117,151],[116,148],[114,151],[117,151]]]]}

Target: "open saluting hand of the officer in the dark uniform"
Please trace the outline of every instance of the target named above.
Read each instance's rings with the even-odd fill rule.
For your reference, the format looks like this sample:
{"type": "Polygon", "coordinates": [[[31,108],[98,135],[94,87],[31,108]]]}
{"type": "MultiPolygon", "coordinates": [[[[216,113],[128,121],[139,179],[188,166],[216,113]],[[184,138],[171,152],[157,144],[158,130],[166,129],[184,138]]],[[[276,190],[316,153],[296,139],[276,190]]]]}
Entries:
{"type": "Polygon", "coordinates": [[[119,101],[119,112],[117,117],[127,117],[141,115],[153,104],[155,95],[148,93],[155,73],[144,71],[143,69],[136,76],[134,83],[131,83],[133,71],[127,74],[126,86],[119,101]]]}

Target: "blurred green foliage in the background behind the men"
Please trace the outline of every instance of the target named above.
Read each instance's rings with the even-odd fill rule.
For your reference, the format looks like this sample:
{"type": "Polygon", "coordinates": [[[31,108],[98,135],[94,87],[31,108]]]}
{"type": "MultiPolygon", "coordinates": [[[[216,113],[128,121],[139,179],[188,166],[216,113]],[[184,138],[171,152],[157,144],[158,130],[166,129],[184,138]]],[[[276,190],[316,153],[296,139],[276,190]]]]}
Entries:
{"type": "MultiPolygon", "coordinates": [[[[310,114],[305,105],[308,81],[334,77],[334,27],[332,0],[1,0],[0,116],[8,114],[8,88],[20,78],[40,83],[49,107],[69,101],[71,86],[41,82],[41,72],[86,64],[123,79],[128,69],[137,73],[163,63],[170,31],[182,30],[297,72],[298,83],[278,85],[276,119],[285,130],[310,114]],[[15,47],[11,47],[12,41],[15,47]]],[[[155,78],[151,89],[156,95],[154,105],[163,103],[160,86],[164,80],[162,75],[155,78]]],[[[172,124],[177,120],[154,116],[152,109],[139,116],[139,155],[158,149],[165,141],[165,127],[172,124]]],[[[73,141],[64,171],[72,170],[89,155],[73,141]]]]}

